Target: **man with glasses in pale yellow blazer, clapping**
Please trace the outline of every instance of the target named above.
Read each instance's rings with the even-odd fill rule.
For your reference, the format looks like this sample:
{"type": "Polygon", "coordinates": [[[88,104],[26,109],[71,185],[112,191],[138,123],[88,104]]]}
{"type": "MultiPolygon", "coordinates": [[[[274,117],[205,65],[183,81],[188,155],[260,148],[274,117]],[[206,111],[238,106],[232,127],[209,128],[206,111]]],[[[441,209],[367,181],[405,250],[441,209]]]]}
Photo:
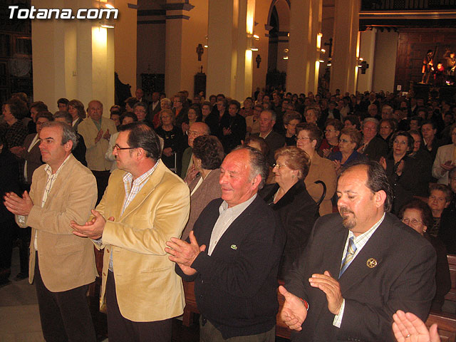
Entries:
{"type": "Polygon", "coordinates": [[[160,154],[158,135],[145,123],[120,126],[118,170],[90,221],[72,223],[74,234],[105,249],[100,304],[108,310],[110,342],[171,341],[172,317],[185,306],[165,242],[185,227],[190,191],[160,154]]]}

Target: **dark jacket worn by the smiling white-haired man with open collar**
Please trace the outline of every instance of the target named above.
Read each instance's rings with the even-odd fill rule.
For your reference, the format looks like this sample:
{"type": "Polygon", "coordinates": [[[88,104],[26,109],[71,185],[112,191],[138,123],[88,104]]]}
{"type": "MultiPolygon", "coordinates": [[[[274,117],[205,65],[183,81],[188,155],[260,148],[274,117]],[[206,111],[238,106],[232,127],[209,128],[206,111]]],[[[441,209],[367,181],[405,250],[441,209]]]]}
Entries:
{"type": "MultiPolygon", "coordinates": [[[[209,249],[222,199],[214,199],[199,215],[193,230],[199,245],[209,249]]],[[[199,312],[224,338],[271,330],[276,324],[277,271],[284,248],[284,232],[274,211],[257,197],[230,224],[212,255],[198,254],[192,268],[199,312]]]]}

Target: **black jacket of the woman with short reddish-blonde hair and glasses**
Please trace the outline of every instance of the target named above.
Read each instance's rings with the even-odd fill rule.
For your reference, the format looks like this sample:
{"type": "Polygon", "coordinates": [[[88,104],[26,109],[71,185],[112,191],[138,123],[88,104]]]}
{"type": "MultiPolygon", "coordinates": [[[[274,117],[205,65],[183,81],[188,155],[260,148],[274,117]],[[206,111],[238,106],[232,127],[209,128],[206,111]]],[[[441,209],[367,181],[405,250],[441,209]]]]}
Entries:
{"type": "MultiPolygon", "coordinates": [[[[296,182],[286,194],[274,204],[278,184],[266,185],[260,196],[279,214],[286,232],[286,244],[281,269],[286,269],[304,251],[315,220],[320,216],[314,199],[306,190],[304,181],[296,182]]],[[[281,271],[283,273],[283,271],[281,271]]]]}

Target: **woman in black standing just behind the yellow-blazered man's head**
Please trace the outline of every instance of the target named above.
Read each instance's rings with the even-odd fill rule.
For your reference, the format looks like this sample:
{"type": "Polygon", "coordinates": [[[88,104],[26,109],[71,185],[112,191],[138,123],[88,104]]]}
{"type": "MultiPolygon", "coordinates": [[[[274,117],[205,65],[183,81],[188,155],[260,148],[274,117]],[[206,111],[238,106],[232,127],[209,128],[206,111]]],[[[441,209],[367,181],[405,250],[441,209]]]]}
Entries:
{"type": "Polygon", "coordinates": [[[175,169],[177,174],[180,173],[178,163],[182,160],[182,151],[184,150],[184,139],[181,128],[173,125],[174,113],[170,109],[160,110],[160,121],[162,125],[155,130],[163,140],[165,145],[162,151],[162,160],[170,169],[175,169]]]}

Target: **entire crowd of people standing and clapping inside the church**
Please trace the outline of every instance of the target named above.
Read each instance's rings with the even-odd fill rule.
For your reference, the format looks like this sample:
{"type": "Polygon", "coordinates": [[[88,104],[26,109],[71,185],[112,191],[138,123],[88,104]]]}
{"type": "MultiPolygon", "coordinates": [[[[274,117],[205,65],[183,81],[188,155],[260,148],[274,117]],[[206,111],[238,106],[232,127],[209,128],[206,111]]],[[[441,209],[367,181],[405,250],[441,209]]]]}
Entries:
{"type": "MultiPolygon", "coordinates": [[[[138,89],[110,107],[110,118],[99,100],[85,108],[60,98],[56,113],[42,101],[28,103],[24,93],[3,104],[0,284],[9,284],[18,239],[21,272],[14,280],[34,277],[45,338],[52,341],[60,324],[65,328],[57,333],[93,341],[88,318],[76,320],[61,308],[70,303],[88,313],[81,298],[96,275],[90,239],[105,249],[101,302],[108,306],[110,339],[118,341],[150,333],[162,336],[154,341],[168,341],[169,318],[183,309],[181,277],[195,281],[202,341],[257,334],[269,341],[277,274],[286,281],[282,318],[314,339],[356,338],[356,327],[363,327],[368,332],[361,337],[388,341],[396,310],[425,320],[430,307],[442,309],[451,286],[446,255],[456,254],[454,100],[257,90],[241,104],[223,94],[188,95],[155,92],[146,100],[138,89]],[[383,237],[386,229],[394,243],[383,237]],[[371,237],[385,244],[382,252],[366,242],[371,237]],[[59,262],[63,249],[57,247],[71,257],[59,262]],[[422,253],[415,255],[416,248],[422,253]],[[398,265],[399,249],[422,260],[419,281],[408,274],[412,261],[398,265]],[[344,290],[353,286],[343,276],[351,260],[352,278],[361,267],[358,254],[390,283],[381,287],[371,274],[357,291],[344,290]],[[84,267],[68,264],[76,257],[84,267]],[[59,281],[58,272],[73,278],[59,281]],[[395,299],[394,281],[416,286],[415,293],[395,299]],[[354,304],[361,289],[378,291],[378,298],[354,304]],[[384,298],[385,291],[392,297],[384,298]],[[50,300],[55,306],[44,304],[50,300]],[[390,307],[377,318],[352,317],[355,311],[372,316],[362,304],[385,306],[382,300],[390,307]],[[85,331],[77,331],[81,324],[85,331]]],[[[304,333],[294,336],[307,341],[304,333]]]]}

